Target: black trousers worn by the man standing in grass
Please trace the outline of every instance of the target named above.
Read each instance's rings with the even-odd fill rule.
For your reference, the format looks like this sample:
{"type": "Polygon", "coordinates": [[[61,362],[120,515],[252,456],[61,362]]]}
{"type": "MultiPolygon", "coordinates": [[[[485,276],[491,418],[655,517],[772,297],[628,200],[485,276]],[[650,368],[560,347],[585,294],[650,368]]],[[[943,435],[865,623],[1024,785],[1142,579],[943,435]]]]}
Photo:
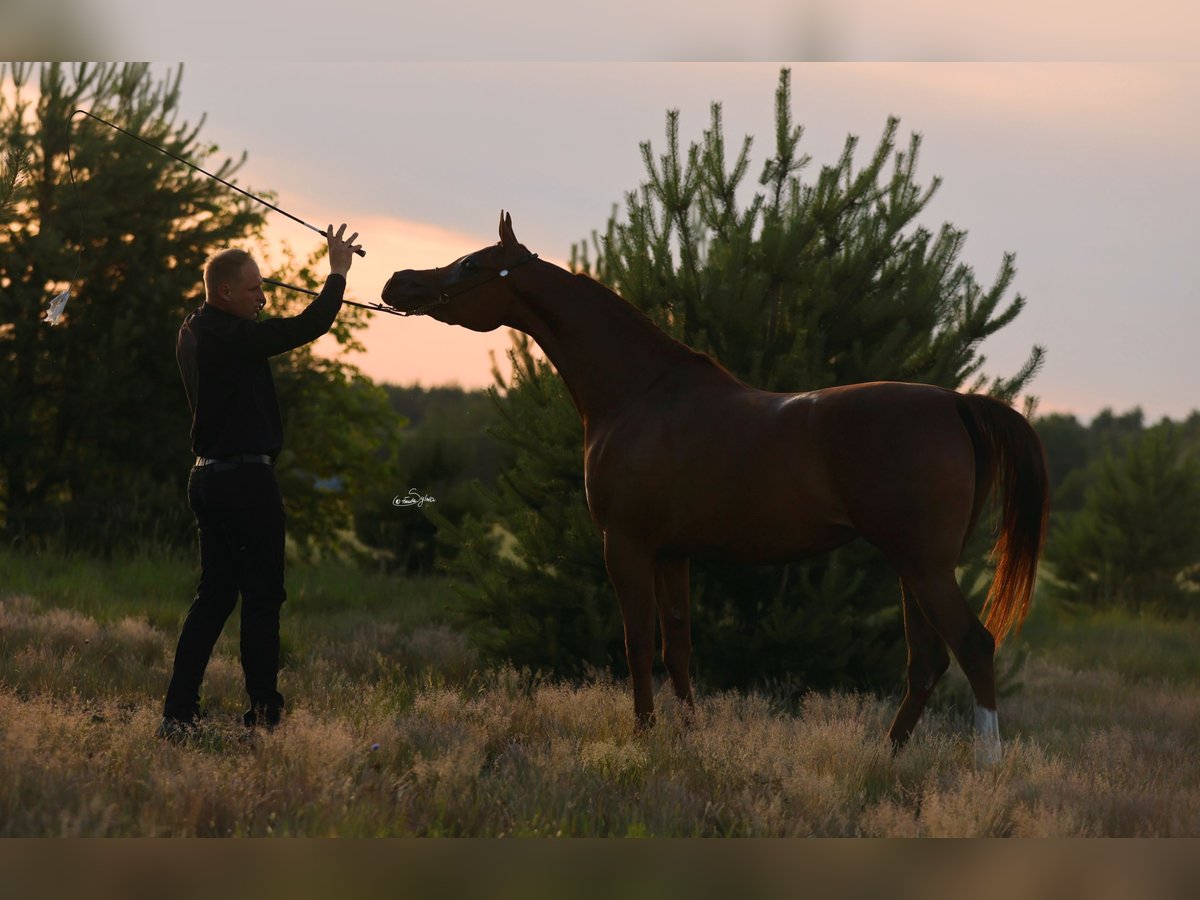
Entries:
{"type": "Polygon", "coordinates": [[[187,500],[200,536],[200,584],[175,648],[163,715],[191,721],[200,709],[200,683],[226,619],[241,594],[241,668],[256,719],[278,721],[280,607],[283,589],[283,499],[265,463],[197,467],[187,500]]]}

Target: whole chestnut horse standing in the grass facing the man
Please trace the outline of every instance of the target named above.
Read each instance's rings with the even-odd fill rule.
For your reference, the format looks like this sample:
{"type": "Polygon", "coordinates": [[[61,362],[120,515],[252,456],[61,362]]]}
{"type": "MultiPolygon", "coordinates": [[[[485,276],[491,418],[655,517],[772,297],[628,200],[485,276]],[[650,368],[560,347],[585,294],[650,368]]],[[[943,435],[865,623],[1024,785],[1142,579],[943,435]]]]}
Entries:
{"type": "Polygon", "coordinates": [[[928,384],[756,390],[602,284],[538,259],[503,212],[498,244],[444,269],[398,271],[383,300],[474,331],[523,331],[566,383],[640,725],[654,719],[655,618],[674,692],[691,707],[690,557],[781,563],[860,536],[900,576],[908,684],[893,748],[912,733],[949,648],[974,694],[980,758],[1000,758],[992,656],[1025,618],[1048,511],[1042,443],[1022,415],[928,384]],[[996,482],[985,626],[954,569],[996,482]]]}

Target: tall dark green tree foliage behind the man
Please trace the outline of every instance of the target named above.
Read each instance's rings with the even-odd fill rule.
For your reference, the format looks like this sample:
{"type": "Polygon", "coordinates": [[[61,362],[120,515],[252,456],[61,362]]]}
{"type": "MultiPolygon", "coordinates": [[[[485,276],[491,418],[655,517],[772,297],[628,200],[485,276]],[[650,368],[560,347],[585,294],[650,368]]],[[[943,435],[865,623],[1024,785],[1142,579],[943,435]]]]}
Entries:
{"type": "MultiPolygon", "coordinates": [[[[263,210],[110,128],[70,119],[91,109],[233,179],[240,162],[199,137],[203,122],[179,121],[181,71],[155,82],[145,65],[53,64],[36,74],[29,65],[0,72],[0,142],[10,158],[26,161],[11,179],[0,229],[0,529],[10,544],[100,552],[192,544],[176,332],[203,301],[204,260],[232,244],[253,250],[263,210]],[[50,328],[42,311],[67,287],[72,299],[50,328]]],[[[287,260],[274,274],[312,282],[294,268],[287,260]]],[[[342,313],[335,337],[343,348],[354,347],[360,322],[359,311],[342,313]]],[[[293,454],[281,476],[293,466],[337,467],[360,481],[386,431],[366,416],[386,404],[343,361],[301,354],[276,371],[293,454]]],[[[314,499],[296,484],[286,492],[302,542],[329,540],[344,524],[341,498],[314,499]]]]}

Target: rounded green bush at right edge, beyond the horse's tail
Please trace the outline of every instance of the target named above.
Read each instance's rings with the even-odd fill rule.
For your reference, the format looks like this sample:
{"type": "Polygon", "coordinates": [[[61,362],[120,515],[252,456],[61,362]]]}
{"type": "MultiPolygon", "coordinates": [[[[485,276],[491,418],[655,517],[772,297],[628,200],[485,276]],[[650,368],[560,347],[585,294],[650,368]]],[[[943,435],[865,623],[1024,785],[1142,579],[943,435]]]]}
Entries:
{"type": "Polygon", "coordinates": [[[1163,422],[1109,451],[1049,550],[1057,592],[1090,605],[1192,611],[1200,582],[1200,456],[1163,422]]]}

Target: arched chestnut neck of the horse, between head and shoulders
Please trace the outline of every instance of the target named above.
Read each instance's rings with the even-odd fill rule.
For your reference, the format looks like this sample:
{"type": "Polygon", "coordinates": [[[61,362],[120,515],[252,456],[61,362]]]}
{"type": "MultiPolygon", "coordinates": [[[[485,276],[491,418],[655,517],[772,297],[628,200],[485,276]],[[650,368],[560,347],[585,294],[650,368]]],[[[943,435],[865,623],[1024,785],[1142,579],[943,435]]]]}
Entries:
{"type": "Polygon", "coordinates": [[[602,284],[550,263],[520,287],[517,320],[554,364],[584,425],[628,406],[695,354],[602,284]]]}

